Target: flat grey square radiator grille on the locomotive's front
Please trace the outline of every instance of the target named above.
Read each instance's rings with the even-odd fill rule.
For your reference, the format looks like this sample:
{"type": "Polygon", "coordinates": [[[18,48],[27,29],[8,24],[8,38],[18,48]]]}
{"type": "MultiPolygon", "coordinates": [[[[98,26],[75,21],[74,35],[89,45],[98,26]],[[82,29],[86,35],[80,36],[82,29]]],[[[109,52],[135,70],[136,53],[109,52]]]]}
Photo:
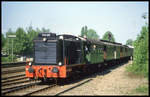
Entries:
{"type": "Polygon", "coordinates": [[[35,42],[35,64],[56,64],[56,42],[35,42]]]}

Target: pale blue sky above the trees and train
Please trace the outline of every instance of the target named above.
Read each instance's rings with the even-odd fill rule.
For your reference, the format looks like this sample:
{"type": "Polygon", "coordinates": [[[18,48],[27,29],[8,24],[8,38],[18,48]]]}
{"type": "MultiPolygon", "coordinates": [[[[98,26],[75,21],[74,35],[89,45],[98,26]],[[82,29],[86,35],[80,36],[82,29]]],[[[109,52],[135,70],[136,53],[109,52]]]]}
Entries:
{"type": "Polygon", "coordinates": [[[116,42],[125,44],[140,33],[148,7],[148,2],[2,2],[2,33],[32,24],[34,29],[80,35],[86,25],[100,38],[111,31],[116,42]]]}

